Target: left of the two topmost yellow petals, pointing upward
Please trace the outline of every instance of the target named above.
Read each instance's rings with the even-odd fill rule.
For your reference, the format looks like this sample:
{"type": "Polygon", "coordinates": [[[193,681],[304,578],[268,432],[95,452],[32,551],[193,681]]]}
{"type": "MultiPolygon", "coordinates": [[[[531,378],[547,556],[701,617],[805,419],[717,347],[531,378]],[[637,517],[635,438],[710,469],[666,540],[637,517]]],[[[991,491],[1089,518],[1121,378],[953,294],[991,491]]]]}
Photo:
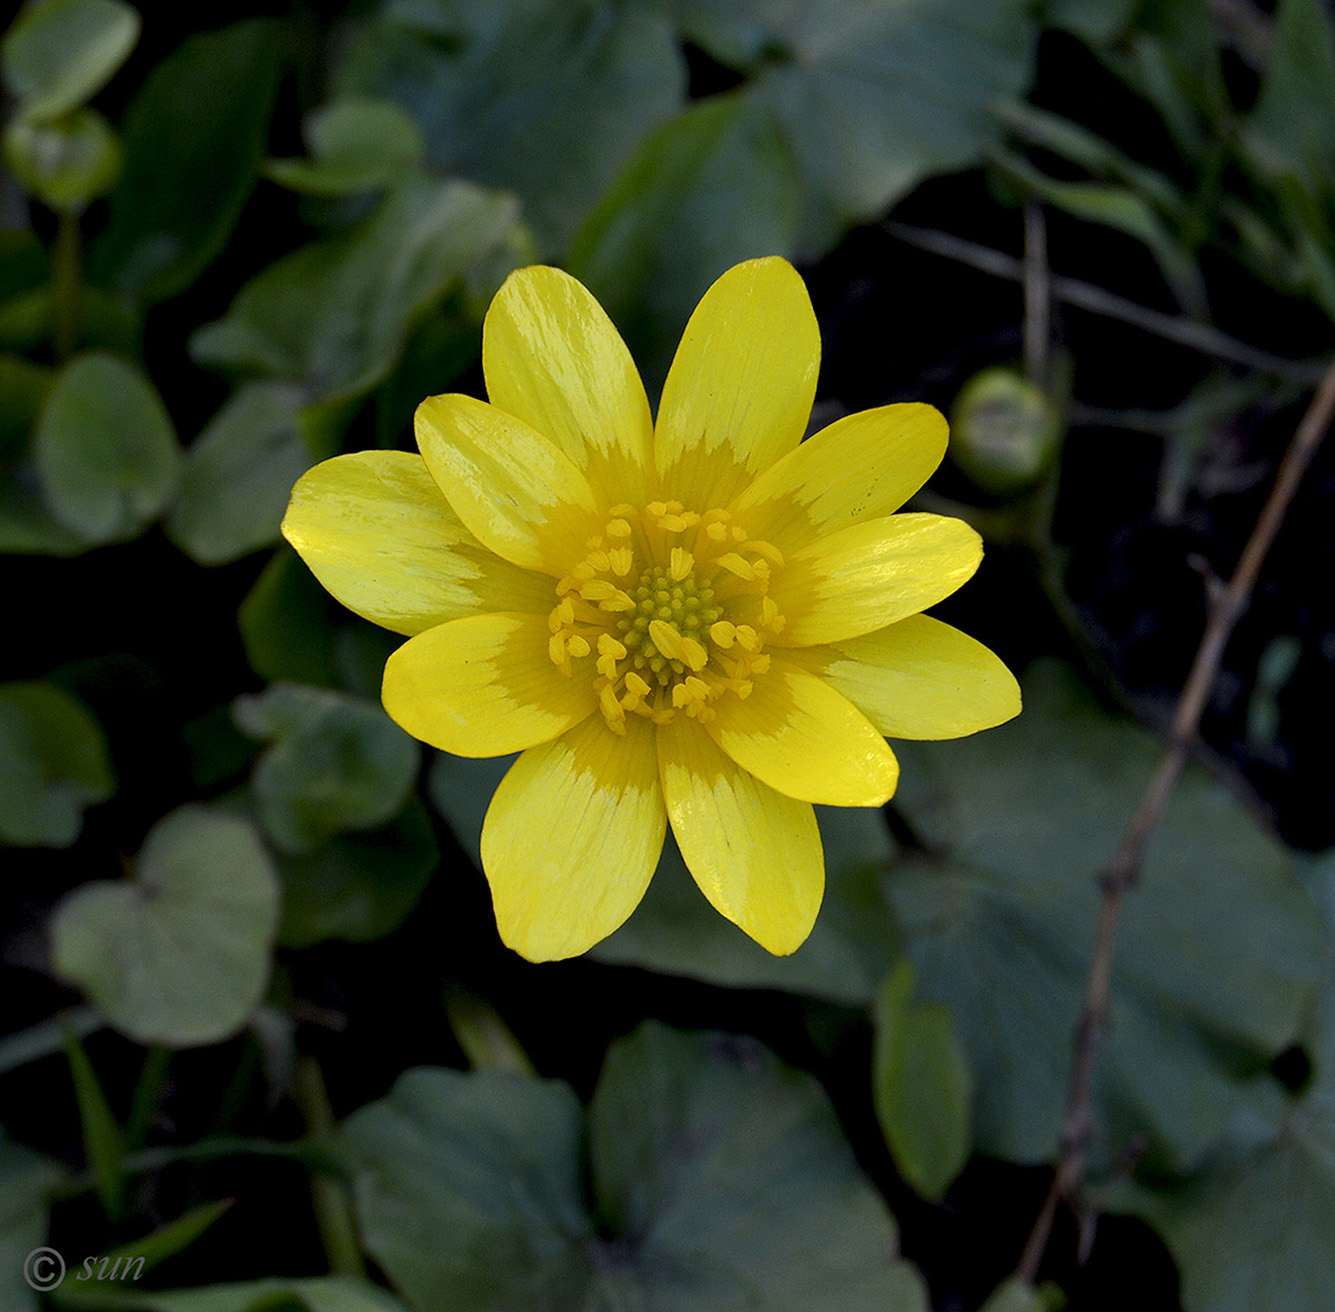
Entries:
{"type": "Polygon", "coordinates": [[[559,268],[521,268],[482,327],[493,406],[550,438],[610,502],[646,499],[653,416],[645,386],[602,306],[559,268]]]}

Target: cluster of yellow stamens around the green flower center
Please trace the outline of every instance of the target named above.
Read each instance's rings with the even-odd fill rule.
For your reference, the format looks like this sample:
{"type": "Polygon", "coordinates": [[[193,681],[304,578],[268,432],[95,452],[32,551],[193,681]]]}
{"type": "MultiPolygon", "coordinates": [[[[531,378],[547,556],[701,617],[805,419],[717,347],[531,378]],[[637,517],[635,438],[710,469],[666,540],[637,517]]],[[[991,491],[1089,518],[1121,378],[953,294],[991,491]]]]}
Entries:
{"type": "Polygon", "coordinates": [[[708,721],[721,697],[750,695],[784,627],[769,595],[776,546],[726,510],[650,502],[613,506],[587,551],[557,583],[547,654],[593,681],[609,729],[623,734],[627,714],[708,721]]]}

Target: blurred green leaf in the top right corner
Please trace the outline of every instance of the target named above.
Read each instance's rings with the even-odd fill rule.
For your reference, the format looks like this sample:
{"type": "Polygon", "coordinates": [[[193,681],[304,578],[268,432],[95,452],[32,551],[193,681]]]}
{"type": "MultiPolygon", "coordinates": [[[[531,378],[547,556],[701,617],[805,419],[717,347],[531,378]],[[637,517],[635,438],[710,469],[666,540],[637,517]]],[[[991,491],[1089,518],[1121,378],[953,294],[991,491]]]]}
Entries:
{"type": "Polygon", "coordinates": [[[1318,0],[1280,0],[1243,145],[1271,180],[1292,174],[1312,194],[1335,184],[1335,33],[1318,0]]]}

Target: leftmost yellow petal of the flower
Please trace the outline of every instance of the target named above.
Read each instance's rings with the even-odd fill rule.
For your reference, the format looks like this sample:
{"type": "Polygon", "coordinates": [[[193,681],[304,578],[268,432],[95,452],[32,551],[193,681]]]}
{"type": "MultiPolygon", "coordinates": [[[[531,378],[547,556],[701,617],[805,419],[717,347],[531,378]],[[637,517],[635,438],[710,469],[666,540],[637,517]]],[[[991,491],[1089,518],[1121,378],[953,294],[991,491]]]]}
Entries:
{"type": "Polygon", "coordinates": [[[407,451],[358,451],[307,470],[283,535],[348,610],[395,633],[551,607],[551,579],[482,546],[407,451]]]}

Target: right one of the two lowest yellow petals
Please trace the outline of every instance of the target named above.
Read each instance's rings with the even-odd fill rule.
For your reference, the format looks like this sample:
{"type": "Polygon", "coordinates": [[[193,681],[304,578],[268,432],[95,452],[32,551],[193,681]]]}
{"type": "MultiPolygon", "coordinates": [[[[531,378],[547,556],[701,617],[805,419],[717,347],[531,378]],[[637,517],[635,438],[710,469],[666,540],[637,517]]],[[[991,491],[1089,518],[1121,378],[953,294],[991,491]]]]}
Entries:
{"type": "Polygon", "coordinates": [[[705,897],[762,948],[796,952],[825,892],[810,803],[748,774],[685,715],[658,730],[658,770],[677,846],[705,897]]]}

